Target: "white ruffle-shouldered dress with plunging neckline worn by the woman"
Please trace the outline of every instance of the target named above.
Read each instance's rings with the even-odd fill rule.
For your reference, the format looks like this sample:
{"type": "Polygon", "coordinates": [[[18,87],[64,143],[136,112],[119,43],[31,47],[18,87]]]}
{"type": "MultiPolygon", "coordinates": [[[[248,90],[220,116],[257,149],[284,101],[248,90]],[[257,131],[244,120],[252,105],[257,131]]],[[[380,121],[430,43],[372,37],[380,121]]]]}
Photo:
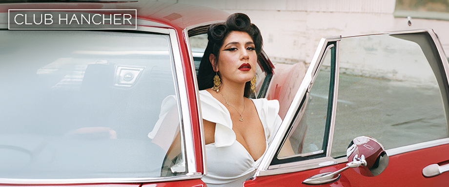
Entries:
{"type": "MultiPolygon", "coordinates": [[[[278,115],[279,102],[251,100],[264,127],[268,147],[282,122],[278,115]]],[[[200,101],[203,119],[216,124],[215,143],[206,145],[207,175],[203,181],[208,187],[242,187],[242,183],[254,174],[261,159],[254,161],[245,147],[236,141],[232,120],[225,105],[206,90],[200,91],[200,101]]]]}

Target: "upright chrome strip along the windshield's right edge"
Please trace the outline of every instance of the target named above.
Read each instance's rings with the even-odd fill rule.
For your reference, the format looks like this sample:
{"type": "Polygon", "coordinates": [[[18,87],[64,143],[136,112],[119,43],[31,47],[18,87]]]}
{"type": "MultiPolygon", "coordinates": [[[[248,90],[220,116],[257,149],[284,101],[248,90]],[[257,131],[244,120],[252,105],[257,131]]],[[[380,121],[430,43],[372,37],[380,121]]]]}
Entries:
{"type": "Polygon", "coordinates": [[[178,79],[178,88],[179,88],[179,98],[181,103],[181,113],[182,113],[182,127],[184,133],[184,137],[181,137],[184,140],[184,151],[185,156],[184,161],[187,164],[188,173],[196,172],[196,163],[195,163],[195,152],[193,145],[193,133],[190,124],[190,112],[187,98],[187,88],[185,87],[185,79],[184,79],[184,70],[183,63],[181,60],[181,52],[179,50],[179,43],[176,31],[174,29],[168,29],[170,33],[170,42],[173,50],[173,59],[175,61],[175,70],[176,70],[176,78],[178,79]]]}

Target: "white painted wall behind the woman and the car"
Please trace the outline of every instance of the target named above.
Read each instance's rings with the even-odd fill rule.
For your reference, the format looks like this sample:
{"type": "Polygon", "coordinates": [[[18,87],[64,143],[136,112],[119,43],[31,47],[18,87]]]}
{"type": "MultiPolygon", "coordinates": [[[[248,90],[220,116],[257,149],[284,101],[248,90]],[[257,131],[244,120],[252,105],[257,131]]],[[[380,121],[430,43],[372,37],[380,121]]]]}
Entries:
{"type": "Polygon", "coordinates": [[[323,37],[434,28],[449,52],[449,21],[394,18],[395,0],[159,0],[247,14],[274,62],[309,63],[323,37]]]}

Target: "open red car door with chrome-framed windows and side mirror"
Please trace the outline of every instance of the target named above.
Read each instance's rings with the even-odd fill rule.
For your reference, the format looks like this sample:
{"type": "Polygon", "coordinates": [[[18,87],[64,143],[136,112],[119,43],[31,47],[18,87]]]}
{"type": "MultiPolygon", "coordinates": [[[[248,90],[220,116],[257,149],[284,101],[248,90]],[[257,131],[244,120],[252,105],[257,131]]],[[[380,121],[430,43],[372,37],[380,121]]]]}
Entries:
{"type": "Polygon", "coordinates": [[[261,165],[244,186],[445,186],[448,73],[433,30],[322,39],[261,165]],[[345,168],[360,161],[351,156],[361,139],[352,140],[360,136],[386,149],[386,163],[382,156],[367,161],[370,171],[380,172],[364,172],[363,163],[345,168]],[[295,154],[279,154],[283,146],[295,154]]]}

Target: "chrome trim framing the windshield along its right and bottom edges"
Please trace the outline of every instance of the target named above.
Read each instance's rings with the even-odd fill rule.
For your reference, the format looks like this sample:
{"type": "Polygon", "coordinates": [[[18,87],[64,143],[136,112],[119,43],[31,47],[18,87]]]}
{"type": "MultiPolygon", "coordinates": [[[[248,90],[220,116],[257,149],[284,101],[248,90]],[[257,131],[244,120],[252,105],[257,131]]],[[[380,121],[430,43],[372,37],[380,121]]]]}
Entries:
{"type": "MultiPolygon", "coordinates": [[[[0,14],[0,17],[2,15],[0,14]]],[[[150,25],[153,21],[139,21],[139,23],[149,23],[150,25]]],[[[7,24],[0,23],[0,29],[7,29],[7,24]],[[6,27],[5,27],[6,26],[6,27]]],[[[87,30],[88,31],[88,30],[87,30]]],[[[158,28],[149,26],[137,26],[137,30],[131,30],[148,33],[158,33],[169,35],[170,45],[173,52],[173,61],[175,76],[177,79],[178,93],[179,93],[179,103],[181,108],[179,108],[180,115],[180,131],[181,138],[184,139],[181,142],[181,146],[184,149],[184,162],[186,163],[186,174],[180,176],[170,176],[170,177],[138,177],[138,178],[88,178],[88,179],[8,179],[0,178],[0,184],[3,185],[70,185],[70,184],[118,184],[118,183],[156,183],[156,182],[168,182],[168,181],[179,181],[179,180],[190,180],[190,179],[201,179],[202,174],[196,172],[196,162],[194,145],[192,139],[192,128],[190,123],[190,113],[188,106],[187,90],[185,87],[184,70],[182,65],[181,52],[179,49],[179,42],[175,29],[172,28],[158,28]],[[184,136],[184,137],[183,137],[184,136]]],[[[108,31],[111,32],[111,31],[108,31]]],[[[125,31],[126,32],[126,31],[125,31]]],[[[201,113],[200,113],[201,115],[201,113]]]]}

